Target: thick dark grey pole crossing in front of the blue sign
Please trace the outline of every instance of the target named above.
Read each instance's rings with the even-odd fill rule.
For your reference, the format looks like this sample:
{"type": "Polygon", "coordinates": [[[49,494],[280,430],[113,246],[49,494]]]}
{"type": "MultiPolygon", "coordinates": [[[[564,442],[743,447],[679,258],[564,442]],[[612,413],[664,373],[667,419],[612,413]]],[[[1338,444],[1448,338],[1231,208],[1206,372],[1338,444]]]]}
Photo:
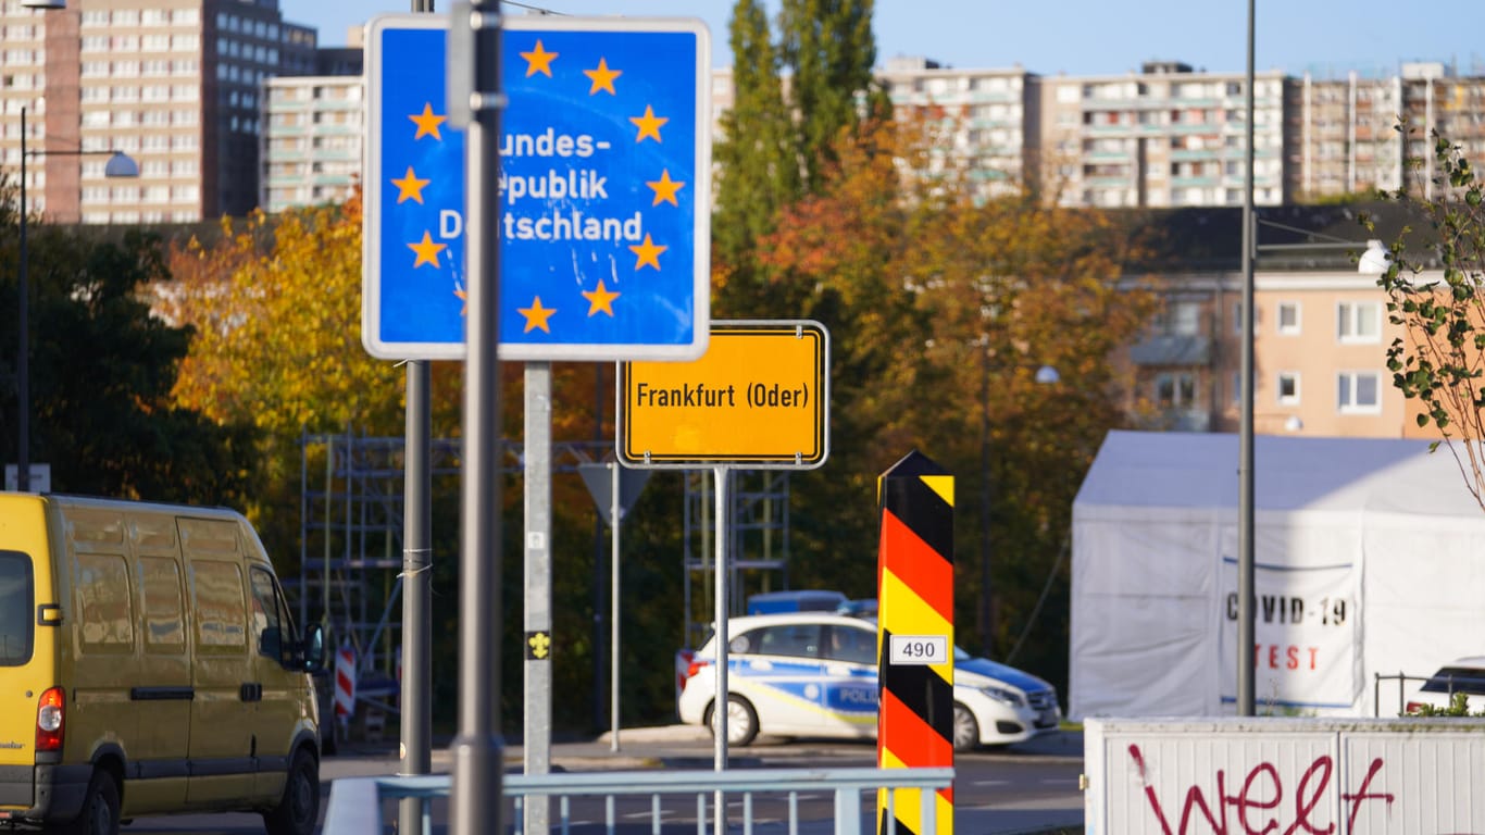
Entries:
{"type": "Polygon", "coordinates": [[[500,13],[495,0],[457,4],[450,22],[471,49],[450,67],[472,67],[472,92],[450,104],[468,113],[465,171],[469,318],[465,364],[465,462],[459,554],[459,735],[453,743],[450,820],[456,835],[500,826],[500,13]]]}

